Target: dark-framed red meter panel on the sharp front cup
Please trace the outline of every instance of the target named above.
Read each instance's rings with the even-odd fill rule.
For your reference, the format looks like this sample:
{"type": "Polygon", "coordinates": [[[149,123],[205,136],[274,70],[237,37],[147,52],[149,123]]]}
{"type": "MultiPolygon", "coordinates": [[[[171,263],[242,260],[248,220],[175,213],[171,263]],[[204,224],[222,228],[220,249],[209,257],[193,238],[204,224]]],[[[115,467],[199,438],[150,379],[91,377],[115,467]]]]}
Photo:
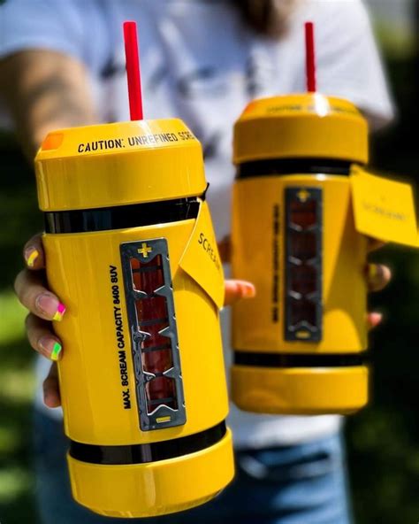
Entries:
{"type": "Polygon", "coordinates": [[[185,424],[167,243],[123,243],[120,250],[141,430],[185,424]]]}

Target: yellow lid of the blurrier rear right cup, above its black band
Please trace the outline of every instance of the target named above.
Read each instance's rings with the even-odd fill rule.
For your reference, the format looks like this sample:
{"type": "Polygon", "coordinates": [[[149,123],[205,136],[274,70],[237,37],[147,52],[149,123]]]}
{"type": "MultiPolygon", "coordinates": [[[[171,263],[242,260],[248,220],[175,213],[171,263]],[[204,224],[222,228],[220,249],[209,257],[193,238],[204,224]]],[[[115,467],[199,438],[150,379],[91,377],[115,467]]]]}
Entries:
{"type": "Polygon", "coordinates": [[[248,104],[234,126],[235,164],[269,158],[368,162],[368,124],[354,104],[320,93],[248,104]]]}

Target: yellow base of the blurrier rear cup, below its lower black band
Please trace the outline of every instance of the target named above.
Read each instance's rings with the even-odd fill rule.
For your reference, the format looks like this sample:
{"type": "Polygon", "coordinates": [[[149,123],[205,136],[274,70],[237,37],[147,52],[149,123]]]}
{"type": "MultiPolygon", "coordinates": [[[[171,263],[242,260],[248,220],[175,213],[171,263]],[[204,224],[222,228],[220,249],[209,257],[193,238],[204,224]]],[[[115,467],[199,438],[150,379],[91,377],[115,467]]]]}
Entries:
{"type": "Polygon", "coordinates": [[[368,379],[366,366],[232,366],[232,395],[240,409],[251,412],[348,414],[367,405],[368,379]]]}

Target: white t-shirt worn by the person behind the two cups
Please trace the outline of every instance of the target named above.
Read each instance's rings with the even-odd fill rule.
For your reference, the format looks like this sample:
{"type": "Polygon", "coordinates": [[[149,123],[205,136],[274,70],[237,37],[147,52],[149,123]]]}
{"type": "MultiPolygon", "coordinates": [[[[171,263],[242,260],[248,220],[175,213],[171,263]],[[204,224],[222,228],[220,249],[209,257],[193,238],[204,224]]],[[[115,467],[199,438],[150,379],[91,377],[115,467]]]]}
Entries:
{"type": "MultiPolygon", "coordinates": [[[[127,120],[122,23],[139,26],[145,117],[179,117],[202,141],[217,237],[230,233],[232,124],[249,100],[305,89],[303,22],[316,24],[318,90],[357,104],[379,127],[392,103],[361,0],[300,0],[287,35],[255,35],[229,0],[9,0],[0,6],[0,57],[45,48],[88,67],[103,121],[127,120]]],[[[223,312],[226,362],[228,312],[223,312]]],[[[39,381],[49,363],[40,359],[39,381]]],[[[39,389],[41,391],[41,388],[39,389]]],[[[45,412],[61,416],[60,410],[45,412]]],[[[232,406],[236,447],[299,443],[339,428],[339,417],[278,417],[232,406]]]]}

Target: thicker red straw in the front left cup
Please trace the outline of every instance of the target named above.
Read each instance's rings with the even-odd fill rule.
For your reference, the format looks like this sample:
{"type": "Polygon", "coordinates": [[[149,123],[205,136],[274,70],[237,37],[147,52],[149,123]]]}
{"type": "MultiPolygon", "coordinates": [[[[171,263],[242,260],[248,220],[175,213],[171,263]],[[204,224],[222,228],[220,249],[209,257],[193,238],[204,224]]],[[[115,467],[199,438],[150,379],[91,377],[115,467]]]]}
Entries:
{"type": "Polygon", "coordinates": [[[124,22],[124,40],[126,43],[129,111],[132,120],[142,120],[140,59],[138,57],[137,24],[135,22],[124,22]]]}

